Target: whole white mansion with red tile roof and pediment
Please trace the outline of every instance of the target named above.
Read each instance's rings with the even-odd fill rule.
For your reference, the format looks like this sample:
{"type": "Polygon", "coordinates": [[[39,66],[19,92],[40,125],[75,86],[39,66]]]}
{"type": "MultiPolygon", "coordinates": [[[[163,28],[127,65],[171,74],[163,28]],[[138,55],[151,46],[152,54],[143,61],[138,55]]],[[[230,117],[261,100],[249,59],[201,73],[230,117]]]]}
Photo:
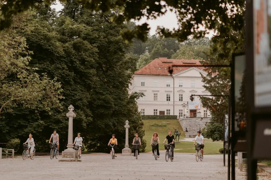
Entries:
{"type": "Polygon", "coordinates": [[[137,100],[141,115],[177,115],[178,117],[210,117],[209,111],[201,106],[199,96],[209,95],[204,89],[201,74],[207,73],[199,60],[177,60],[159,57],[143,68],[137,70],[132,77],[129,93],[143,92],[145,97],[137,100]],[[168,72],[172,65],[188,65],[173,67],[172,75],[168,72]],[[183,106],[186,104],[186,107],[183,106]]]}

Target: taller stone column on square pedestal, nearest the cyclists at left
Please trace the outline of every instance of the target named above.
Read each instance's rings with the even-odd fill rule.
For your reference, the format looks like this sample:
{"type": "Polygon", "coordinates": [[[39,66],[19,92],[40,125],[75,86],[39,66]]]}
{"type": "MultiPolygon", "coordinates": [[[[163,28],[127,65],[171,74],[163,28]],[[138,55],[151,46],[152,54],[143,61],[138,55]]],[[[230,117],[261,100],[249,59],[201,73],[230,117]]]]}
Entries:
{"type": "Polygon", "coordinates": [[[62,151],[62,159],[59,161],[61,162],[74,162],[74,161],[81,161],[78,159],[78,152],[73,149],[73,118],[76,117],[75,113],[73,112],[74,107],[70,105],[68,107],[69,112],[66,114],[69,117],[69,130],[68,130],[68,144],[67,149],[62,151]]]}

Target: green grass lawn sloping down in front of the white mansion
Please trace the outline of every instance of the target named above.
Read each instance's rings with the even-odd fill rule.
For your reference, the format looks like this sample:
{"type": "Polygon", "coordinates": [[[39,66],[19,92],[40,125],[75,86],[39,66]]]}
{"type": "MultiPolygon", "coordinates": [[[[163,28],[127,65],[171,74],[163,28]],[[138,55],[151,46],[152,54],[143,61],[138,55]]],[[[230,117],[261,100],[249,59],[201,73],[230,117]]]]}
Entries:
{"type": "MultiPolygon", "coordinates": [[[[159,144],[159,150],[164,150],[164,145],[162,142],[168,135],[168,131],[171,130],[172,134],[175,131],[175,128],[181,133],[180,135],[180,140],[185,138],[185,134],[183,132],[183,129],[179,123],[178,120],[176,119],[170,119],[170,120],[143,120],[144,121],[144,129],[145,129],[145,136],[144,139],[147,141],[147,146],[146,146],[146,152],[151,151],[151,137],[154,132],[157,132],[159,135],[160,139],[160,144],[159,144]]],[[[176,150],[176,152],[195,152],[195,146],[193,145],[193,141],[188,142],[188,141],[180,141],[180,143],[175,144],[175,149],[180,149],[180,148],[191,148],[191,149],[184,149],[184,150],[176,150]]],[[[204,147],[204,154],[220,154],[218,152],[219,148],[223,148],[223,143],[222,141],[220,142],[212,142],[212,140],[205,140],[205,147],[204,147]]]]}

